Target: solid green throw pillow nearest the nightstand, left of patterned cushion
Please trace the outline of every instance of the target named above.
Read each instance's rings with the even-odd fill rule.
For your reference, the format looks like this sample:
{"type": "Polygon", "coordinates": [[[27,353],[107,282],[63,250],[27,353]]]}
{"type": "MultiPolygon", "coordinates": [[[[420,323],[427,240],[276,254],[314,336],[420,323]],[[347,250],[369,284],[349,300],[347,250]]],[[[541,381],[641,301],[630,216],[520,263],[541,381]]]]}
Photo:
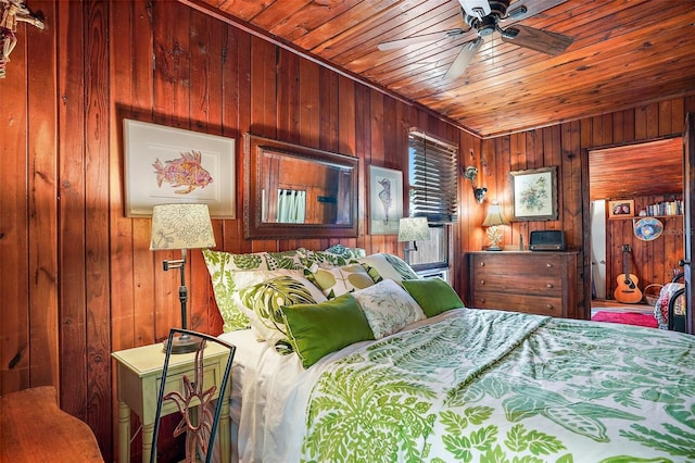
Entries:
{"type": "Polygon", "coordinates": [[[374,339],[364,312],[350,293],[320,304],[286,305],[282,315],[305,368],[345,346],[374,339]]]}

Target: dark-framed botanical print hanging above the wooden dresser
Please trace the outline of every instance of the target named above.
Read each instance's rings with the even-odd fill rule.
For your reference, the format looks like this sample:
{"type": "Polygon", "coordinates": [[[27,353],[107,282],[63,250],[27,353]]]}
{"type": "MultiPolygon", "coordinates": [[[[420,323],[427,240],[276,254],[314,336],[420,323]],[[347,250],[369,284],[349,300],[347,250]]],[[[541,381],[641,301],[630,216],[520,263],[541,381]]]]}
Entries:
{"type": "Polygon", "coordinates": [[[515,221],[556,221],[557,166],[510,172],[515,221]]]}

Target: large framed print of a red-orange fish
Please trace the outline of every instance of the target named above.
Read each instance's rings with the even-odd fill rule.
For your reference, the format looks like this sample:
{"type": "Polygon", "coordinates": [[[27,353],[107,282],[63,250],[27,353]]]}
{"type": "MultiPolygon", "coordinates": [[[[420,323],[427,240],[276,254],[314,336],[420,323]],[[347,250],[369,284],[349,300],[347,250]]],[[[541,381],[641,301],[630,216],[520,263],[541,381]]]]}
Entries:
{"type": "Polygon", "coordinates": [[[123,121],[126,216],[154,204],[205,203],[215,218],[235,218],[235,139],[146,122],[123,121]]]}

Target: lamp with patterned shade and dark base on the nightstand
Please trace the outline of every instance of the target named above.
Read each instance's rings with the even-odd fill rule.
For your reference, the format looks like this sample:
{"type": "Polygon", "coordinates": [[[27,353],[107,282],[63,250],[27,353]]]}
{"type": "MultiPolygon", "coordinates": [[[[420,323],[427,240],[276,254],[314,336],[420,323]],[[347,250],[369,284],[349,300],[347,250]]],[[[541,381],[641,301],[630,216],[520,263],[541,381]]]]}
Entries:
{"type": "MultiPolygon", "coordinates": [[[[186,326],[186,304],[188,302],[188,289],[186,288],[187,250],[212,248],[214,246],[215,235],[213,234],[207,204],[157,204],[152,209],[150,250],[181,250],[181,259],[164,261],[163,267],[165,272],[169,268],[178,268],[180,272],[178,299],[181,303],[181,327],[184,329],[188,329],[186,326]]],[[[193,352],[199,345],[199,338],[181,335],[174,338],[172,353],[193,352]]]]}

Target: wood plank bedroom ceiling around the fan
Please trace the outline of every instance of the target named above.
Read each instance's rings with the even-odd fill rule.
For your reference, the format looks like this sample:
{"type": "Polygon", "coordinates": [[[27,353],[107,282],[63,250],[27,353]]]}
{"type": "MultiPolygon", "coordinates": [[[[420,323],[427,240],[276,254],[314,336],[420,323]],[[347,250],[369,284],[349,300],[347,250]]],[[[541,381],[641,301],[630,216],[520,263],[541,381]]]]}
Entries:
{"type": "Polygon", "coordinates": [[[573,38],[552,57],[488,37],[466,72],[443,79],[471,30],[379,51],[377,45],[467,28],[457,0],[180,0],[420,103],[481,137],[695,93],[695,1],[516,0],[518,23],[573,38]]]}

